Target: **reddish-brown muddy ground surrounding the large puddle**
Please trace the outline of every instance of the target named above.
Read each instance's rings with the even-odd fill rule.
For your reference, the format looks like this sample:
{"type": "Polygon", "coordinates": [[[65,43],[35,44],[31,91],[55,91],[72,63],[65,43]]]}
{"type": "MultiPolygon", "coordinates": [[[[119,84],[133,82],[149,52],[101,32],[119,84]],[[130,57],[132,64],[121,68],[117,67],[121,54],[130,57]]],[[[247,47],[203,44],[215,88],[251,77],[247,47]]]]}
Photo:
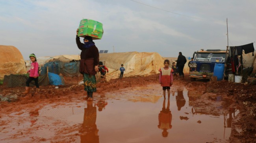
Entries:
{"type": "MultiPolygon", "coordinates": [[[[24,87],[7,88],[0,85],[0,95],[12,96],[17,95],[17,100],[9,99],[8,101],[0,102],[0,133],[6,134],[6,136],[12,136],[12,139],[18,138],[16,133],[7,133],[4,126],[10,123],[6,119],[10,114],[16,113],[19,116],[20,111],[30,110],[30,114],[36,116],[37,111],[41,107],[51,103],[68,103],[71,101],[84,100],[85,92],[83,92],[83,86],[77,85],[80,78],[64,77],[66,85],[60,86],[58,89],[55,86],[48,85],[40,87],[39,94],[34,94],[35,88],[31,88],[30,94],[24,95],[24,87]],[[60,101],[60,102],[59,102],[60,101]],[[35,114],[33,114],[35,113],[35,114]]],[[[134,76],[123,78],[122,80],[110,80],[106,83],[97,83],[97,92],[94,97],[104,97],[109,92],[122,92],[122,89],[129,87],[140,87],[152,83],[158,83],[158,75],[151,76],[134,76]]],[[[181,88],[186,87],[188,90],[197,91],[202,96],[196,98],[193,105],[202,107],[208,110],[210,113],[222,112],[228,114],[231,109],[239,109],[239,114],[232,120],[232,129],[230,139],[227,143],[255,143],[256,142],[256,86],[248,85],[244,83],[229,83],[226,80],[210,82],[208,80],[197,80],[191,82],[187,77],[185,80],[174,80],[175,86],[181,88]],[[223,101],[215,102],[217,96],[221,96],[223,101]],[[228,107],[219,109],[216,108],[223,104],[224,100],[231,100],[232,104],[228,107]]],[[[161,88],[160,85],[159,87],[161,88]]],[[[56,105],[57,106],[57,105],[56,105]]],[[[31,121],[33,123],[33,121],[31,121]]],[[[57,126],[57,125],[56,125],[57,126]]],[[[72,130],[73,127],[69,127],[65,130],[72,130]]],[[[30,132],[33,132],[31,130],[30,132]]],[[[64,131],[63,131],[64,132],[64,131]]],[[[29,133],[27,130],[26,133],[29,133]]],[[[20,134],[23,134],[21,132],[20,134]]],[[[68,132],[67,132],[68,134],[68,132]]],[[[72,138],[70,137],[70,142],[72,138]]],[[[42,138],[41,141],[47,139],[42,138]]],[[[69,140],[65,139],[69,142],[69,140]]],[[[61,143],[63,140],[56,139],[54,143],[61,143]]],[[[216,143],[218,141],[215,141],[216,143]]]]}

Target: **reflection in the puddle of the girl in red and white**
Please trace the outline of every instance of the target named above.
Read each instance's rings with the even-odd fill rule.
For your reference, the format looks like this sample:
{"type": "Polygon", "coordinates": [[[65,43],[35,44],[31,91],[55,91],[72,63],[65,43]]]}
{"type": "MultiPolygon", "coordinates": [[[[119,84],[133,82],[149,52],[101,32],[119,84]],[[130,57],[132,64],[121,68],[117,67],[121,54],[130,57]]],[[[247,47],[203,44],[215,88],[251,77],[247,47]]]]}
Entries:
{"type": "Polygon", "coordinates": [[[160,113],[158,114],[158,128],[162,129],[162,135],[163,137],[167,137],[168,136],[168,129],[172,128],[172,114],[170,111],[170,100],[168,100],[167,102],[167,107],[165,108],[165,99],[163,100],[163,108],[160,111],[160,113]]]}

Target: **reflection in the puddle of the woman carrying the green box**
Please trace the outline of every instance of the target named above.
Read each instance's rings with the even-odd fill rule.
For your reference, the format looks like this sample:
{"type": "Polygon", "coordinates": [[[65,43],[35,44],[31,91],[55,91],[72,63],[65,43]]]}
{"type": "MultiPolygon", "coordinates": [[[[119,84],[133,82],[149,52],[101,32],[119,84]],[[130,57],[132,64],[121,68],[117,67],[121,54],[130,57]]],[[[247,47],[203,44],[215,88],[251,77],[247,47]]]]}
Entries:
{"type": "Polygon", "coordinates": [[[82,129],[80,136],[81,143],[99,143],[98,129],[96,126],[96,106],[93,101],[87,101],[87,108],[84,109],[82,129]]]}

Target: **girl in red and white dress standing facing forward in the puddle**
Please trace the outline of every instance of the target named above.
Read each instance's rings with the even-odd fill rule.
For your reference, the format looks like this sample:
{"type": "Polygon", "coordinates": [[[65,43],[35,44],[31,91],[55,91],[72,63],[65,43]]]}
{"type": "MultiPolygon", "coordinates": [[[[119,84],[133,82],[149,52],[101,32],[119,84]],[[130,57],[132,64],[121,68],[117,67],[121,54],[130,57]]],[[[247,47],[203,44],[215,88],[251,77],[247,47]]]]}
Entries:
{"type": "Polygon", "coordinates": [[[165,99],[165,91],[167,89],[168,99],[170,98],[170,87],[173,84],[173,69],[169,67],[170,61],[165,60],[163,63],[165,66],[159,69],[159,83],[163,87],[163,98],[165,99]]]}

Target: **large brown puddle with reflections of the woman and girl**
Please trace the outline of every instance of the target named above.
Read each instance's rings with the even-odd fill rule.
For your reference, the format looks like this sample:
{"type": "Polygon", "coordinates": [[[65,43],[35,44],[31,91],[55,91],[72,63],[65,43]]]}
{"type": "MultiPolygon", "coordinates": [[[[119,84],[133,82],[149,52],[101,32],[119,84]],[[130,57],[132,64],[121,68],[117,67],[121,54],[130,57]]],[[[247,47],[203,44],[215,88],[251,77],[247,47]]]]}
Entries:
{"type": "MultiPolygon", "coordinates": [[[[199,96],[196,91],[183,89],[172,91],[170,99],[166,96],[164,100],[159,89],[137,87],[108,93],[91,102],[48,105],[38,112],[30,112],[31,119],[23,124],[23,128],[40,126],[32,134],[45,139],[43,143],[50,142],[47,139],[56,134],[71,133],[78,135],[72,143],[206,143],[228,140],[231,121],[239,110],[230,109],[227,115],[208,112],[193,106],[192,101],[199,96]],[[65,133],[64,130],[47,129],[49,126],[78,128],[65,133]]],[[[226,104],[230,102],[226,101],[226,104]]],[[[225,105],[218,108],[225,108],[225,105]]],[[[20,139],[13,141],[29,140],[20,139]]],[[[11,139],[3,137],[2,141],[9,143],[11,139]]]]}

